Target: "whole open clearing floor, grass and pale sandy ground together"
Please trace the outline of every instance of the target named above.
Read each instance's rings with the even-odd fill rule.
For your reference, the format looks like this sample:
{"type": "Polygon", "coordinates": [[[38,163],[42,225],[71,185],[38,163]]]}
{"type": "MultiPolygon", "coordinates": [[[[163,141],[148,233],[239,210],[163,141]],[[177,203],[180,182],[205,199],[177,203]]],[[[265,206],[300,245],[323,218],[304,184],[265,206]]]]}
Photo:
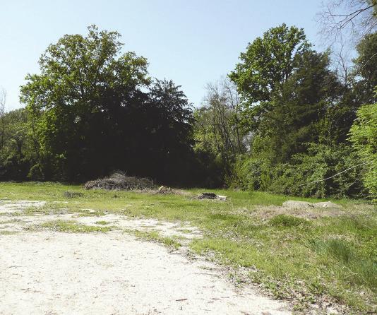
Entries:
{"type": "Polygon", "coordinates": [[[0,184],[0,314],[376,311],[376,206],[201,191],[0,184]]]}

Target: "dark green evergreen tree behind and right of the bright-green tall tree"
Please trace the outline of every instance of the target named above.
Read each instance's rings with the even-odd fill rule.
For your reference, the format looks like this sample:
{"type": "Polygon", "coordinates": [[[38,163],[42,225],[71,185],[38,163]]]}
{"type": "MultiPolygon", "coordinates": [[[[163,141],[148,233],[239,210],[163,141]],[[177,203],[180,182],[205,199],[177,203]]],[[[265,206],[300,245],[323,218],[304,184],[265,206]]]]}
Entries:
{"type": "Polygon", "coordinates": [[[265,138],[269,159],[287,162],[306,152],[306,143],[335,137],[337,126],[323,127],[341,92],[328,53],[308,51],[298,57],[292,75],[273,95],[270,111],[261,116],[258,136],[265,138]]]}

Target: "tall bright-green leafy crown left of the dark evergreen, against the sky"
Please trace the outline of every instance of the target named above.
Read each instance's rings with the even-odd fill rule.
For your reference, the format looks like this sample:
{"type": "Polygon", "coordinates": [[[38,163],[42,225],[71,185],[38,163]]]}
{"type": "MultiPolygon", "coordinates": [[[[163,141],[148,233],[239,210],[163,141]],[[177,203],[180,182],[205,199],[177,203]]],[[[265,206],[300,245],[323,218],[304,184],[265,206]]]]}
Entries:
{"type": "Polygon", "coordinates": [[[310,47],[304,30],[282,24],[270,28],[241,53],[241,62],[229,78],[241,93],[244,119],[251,129],[261,112],[268,111],[265,102],[291,76],[295,60],[310,47]]]}

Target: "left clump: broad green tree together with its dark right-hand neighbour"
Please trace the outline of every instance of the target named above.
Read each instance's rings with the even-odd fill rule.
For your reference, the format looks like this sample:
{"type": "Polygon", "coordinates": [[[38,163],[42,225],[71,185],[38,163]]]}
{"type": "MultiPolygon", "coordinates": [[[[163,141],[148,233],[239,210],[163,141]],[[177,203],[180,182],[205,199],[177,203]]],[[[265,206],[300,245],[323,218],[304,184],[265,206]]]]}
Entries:
{"type": "Polygon", "coordinates": [[[112,170],[155,178],[191,148],[186,97],[171,81],[148,90],[147,60],[123,53],[119,37],[95,25],[85,37],[65,35],[40,58],[40,74],[27,76],[21,100],[40,160],[32,170],[45,178],[83,180],[112,170]]]}

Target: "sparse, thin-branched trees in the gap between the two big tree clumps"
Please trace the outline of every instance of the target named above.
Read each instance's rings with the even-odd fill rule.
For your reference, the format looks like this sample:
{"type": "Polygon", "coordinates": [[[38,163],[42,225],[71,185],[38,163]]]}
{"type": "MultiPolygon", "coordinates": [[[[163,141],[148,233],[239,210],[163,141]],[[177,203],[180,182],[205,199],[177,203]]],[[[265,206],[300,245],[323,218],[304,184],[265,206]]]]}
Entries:
{"type": "Polygon", "coordinates": [[[204,104],[195,112],[195,151],[203,165],[215,172],[212,174],[215,182],[223,182],[237,155],[246,151],[239,95],[234,84],[226,78],[209,83],[206,90],[204,104]]]}

